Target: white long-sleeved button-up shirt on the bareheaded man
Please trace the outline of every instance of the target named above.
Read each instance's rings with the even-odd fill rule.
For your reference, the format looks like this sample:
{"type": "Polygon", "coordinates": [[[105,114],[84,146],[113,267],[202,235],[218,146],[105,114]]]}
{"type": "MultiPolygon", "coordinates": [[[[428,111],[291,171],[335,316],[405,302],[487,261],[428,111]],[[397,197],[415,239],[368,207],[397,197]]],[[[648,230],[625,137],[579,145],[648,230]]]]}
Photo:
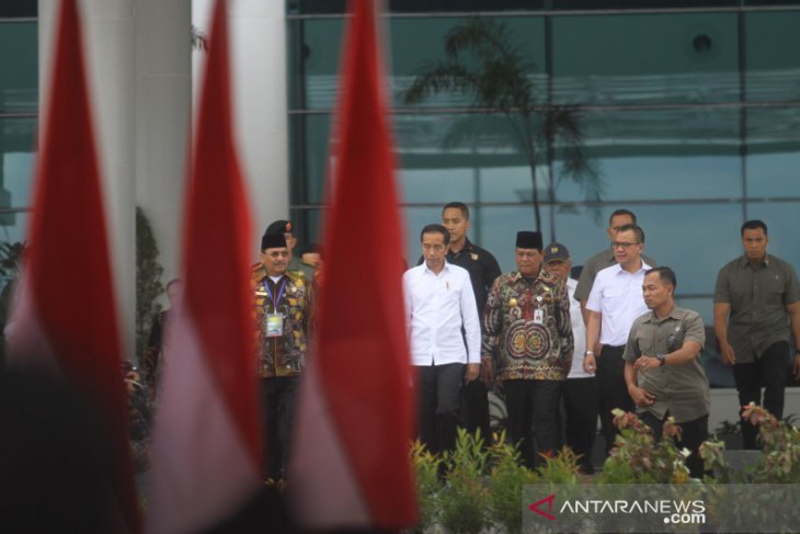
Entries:
{"type": "Polygon", "coordinates": [[[480,319],[466,269],[445,263],[436,275],[423,262],[403,274],[403,297],[412,365],[480,363],[480,319]]]}

